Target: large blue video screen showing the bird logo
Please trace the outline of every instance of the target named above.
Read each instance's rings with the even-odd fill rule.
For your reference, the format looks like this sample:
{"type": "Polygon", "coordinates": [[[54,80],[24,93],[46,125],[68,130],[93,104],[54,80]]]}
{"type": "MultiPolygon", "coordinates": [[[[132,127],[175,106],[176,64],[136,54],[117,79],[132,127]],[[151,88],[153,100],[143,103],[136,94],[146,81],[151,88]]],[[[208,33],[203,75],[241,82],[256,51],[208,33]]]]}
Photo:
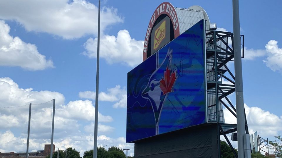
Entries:
{"type": "Polygon", "coordinates": [[[126,142],[207,122],[201,20],[127,74],[126,142]]]}

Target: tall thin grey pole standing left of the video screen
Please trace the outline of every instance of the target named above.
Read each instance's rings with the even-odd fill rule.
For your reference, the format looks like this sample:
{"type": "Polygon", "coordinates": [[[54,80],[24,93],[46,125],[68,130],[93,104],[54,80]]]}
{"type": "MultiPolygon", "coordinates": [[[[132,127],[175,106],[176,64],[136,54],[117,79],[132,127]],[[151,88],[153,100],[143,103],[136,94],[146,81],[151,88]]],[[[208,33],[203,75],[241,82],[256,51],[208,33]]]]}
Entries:
{"type": "Polygon", "coordinates": [[[96,97],[95,97],[95,121],[94,121],[94,148],[93,158],[97,158],[97,135],[98,135],[98,97],[99,97],[99,53],[100,53],[100,0],[98,11],[98,42],[97,42],[97,70],[96,70],[96,97]]]}

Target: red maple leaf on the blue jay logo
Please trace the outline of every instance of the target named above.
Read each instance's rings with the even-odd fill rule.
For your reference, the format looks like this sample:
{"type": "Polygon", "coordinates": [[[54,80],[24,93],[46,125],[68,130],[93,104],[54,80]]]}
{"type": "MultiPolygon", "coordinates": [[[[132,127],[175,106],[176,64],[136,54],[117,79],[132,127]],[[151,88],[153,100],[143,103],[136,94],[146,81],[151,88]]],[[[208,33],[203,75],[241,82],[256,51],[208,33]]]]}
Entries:
{"type": "Polygon", "coordinates": [[[176,71],[170,74],[170,70],[167,67],[167,69],[164,71],[164,77],[162,78],[162,80],[160,80],[160,88],[164,93],[163,95],[172,92],[171,89],[175,80],[176,80],[176,71]]]}

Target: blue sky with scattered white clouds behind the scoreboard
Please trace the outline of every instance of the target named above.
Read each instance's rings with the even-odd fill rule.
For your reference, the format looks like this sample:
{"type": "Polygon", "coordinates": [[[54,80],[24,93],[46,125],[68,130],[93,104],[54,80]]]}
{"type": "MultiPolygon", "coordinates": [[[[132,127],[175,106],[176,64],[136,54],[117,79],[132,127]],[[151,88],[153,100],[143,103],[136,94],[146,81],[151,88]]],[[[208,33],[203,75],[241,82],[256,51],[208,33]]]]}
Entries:
{"type": "MultiPolygon", "coordinates": [[[[134,154],[125,142],[127,72],[142,62],[149,20],[162,2],[101,0],[98,146],[134,154]]],[[[232,1],[169,2],[202,6],[218,30],[233,32],[232,1]]],[[[270,140],[282,134],[281,5],[239,1],[247,121],[250,133],[270,140]]],[[[53,98],[56,150],[73,147],[82,156],[93,148],[97,27],[98,0],[0,1],[0,152],[26,150],[29,103],[44,103],[32,106],[29,151],[50,143],[53,98]]]]}

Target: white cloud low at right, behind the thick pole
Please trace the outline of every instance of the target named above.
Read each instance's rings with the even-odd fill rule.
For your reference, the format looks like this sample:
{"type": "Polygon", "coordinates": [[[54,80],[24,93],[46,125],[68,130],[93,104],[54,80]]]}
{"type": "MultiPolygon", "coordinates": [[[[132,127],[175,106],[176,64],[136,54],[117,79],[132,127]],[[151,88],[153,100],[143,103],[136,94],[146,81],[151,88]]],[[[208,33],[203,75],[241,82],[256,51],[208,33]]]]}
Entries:
{"type": "MultiPolygon", "coordinates": [[[[273,138],[278,135],[278,132],[282,131],[282,116],[271,114],[259,107],[244,105],[250,134],[257,131],[263,138],[273,138]]],[[[224,118],[225,123],[236,124],[237,122],[236,118],[226,108],[224,108],[224,118]]]]}

